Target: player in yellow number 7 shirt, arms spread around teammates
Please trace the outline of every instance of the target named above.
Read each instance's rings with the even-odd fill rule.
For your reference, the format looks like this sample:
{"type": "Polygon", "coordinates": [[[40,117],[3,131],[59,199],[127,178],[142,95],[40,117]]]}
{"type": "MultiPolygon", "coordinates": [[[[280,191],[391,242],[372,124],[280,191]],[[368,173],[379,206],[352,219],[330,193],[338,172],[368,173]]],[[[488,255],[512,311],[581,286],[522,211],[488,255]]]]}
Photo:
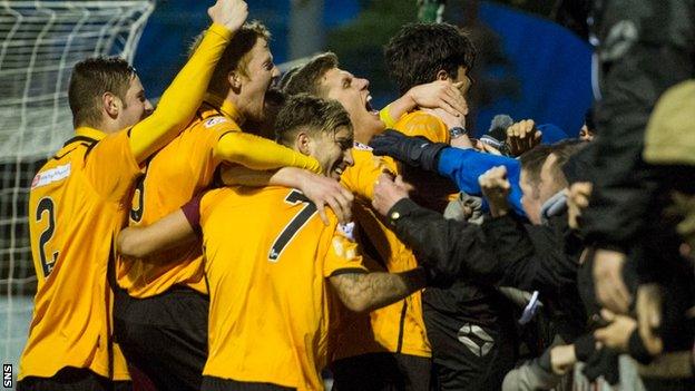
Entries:
{"type": "MultiPolygon", "coordinates": [[[[352,126],[337,102],[292,97],[278,115],[277,139],[314,156],[334,180],[352,165],[352,126]]],[[[336,231],[330,218],[331,225],[323,225],[315,206],[295,189],[225,187],[206,193],[199,207],[194,202],[149,227],[123,232],[121,252],[148,253],[194,235],[199,219],[211,286],[204,390],[244,389],[248,384],[239,383],[246,382],[268,383],[255,384],[267,390],[322,389],[332,303],[327,282],[353,311],[389,304],[423,286],[421,270],[366,273],[350,234],[336,231]]]]}

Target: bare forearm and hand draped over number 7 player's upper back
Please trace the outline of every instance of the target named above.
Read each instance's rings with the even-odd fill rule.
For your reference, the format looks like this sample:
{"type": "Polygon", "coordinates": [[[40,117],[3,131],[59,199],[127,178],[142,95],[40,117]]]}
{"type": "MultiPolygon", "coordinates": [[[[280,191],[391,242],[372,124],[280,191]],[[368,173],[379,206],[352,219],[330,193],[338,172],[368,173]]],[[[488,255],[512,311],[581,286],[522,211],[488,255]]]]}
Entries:
{"type": "Polygon", "coordinates": [[[327,226],[329,217],[325,205],[335,213],[337,221],[352,221],[352,193],[340,183],[322,175],[295,167],[284,167],[275,172],[255,170],[244,166],[223,166],[222,182],[225,185],[244,185],[252,187],[285,186],[298,188],[316,205],[319,216],[327,226]]]}

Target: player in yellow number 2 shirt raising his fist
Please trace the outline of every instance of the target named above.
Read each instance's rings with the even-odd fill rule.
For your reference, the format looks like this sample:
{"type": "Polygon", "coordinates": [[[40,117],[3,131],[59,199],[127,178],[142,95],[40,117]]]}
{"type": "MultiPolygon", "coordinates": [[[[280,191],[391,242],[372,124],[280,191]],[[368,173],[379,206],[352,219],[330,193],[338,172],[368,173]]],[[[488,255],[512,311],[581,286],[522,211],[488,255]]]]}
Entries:
{"type": "Polygon", "coordinates": [[[153,107],[127,62],[97,58],[75,66],[69,102],[76,136],[31,186],[38,292],[19,390],[128,387],[111,336],[112,241],[126,221],[140,165],[190,120],[246,12],[238,0],[218,0],[208,9],[213,26],[150,116],[153,107]]]}

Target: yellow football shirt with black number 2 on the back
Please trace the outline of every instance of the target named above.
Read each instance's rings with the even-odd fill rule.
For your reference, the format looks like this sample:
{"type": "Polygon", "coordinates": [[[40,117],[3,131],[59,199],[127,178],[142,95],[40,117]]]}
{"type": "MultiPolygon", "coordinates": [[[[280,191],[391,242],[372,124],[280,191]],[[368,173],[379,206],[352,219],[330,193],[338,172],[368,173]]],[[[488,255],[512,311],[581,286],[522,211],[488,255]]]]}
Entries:
{"type": "MultiPolygon", "coordinates": [[[[38,289],[20,380],[49,378],[66,366],[109,375],[107,268],[140,169],[126,130],[105,137],[85,127],[76,134],[31,184],[29,232],[38,289]]],[[[117,346],[114,353],[114,379],[129,379],[117,346]]]]}

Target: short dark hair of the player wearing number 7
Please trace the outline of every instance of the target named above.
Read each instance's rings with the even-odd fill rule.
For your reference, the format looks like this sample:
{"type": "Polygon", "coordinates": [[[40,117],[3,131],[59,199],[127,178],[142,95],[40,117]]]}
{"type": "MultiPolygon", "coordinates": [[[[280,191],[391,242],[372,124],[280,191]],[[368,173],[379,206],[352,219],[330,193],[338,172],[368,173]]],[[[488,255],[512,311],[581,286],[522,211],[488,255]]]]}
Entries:
{"type": "Polygon", "coordinates": [[[298,94],[291,96],[277,114],[275,140],[290,146],[301,130],[316,136],[320,133],[335,134],[341,127],[353,131],[350,116],[339,101],[298,94]]]}

